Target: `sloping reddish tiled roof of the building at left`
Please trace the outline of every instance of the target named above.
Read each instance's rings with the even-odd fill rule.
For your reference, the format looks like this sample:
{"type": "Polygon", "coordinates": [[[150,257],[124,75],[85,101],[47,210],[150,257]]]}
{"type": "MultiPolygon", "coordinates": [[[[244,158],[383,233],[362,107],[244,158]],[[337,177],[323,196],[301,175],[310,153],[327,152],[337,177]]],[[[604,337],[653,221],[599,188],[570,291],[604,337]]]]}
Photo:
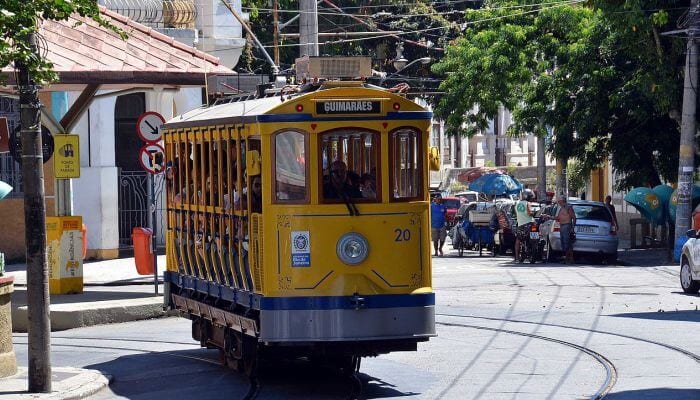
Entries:
{"type": "Polygon", "coordinates": [[[106,21],[124,30],[128,38],[122,40],[112,30],[78,15],[67,21],[42,21],[40,33],[48,44],[47,57],[62,80],[86,79],[92,71],[102,80],[151,79],[177,84],[181,79],[191,84],[200,79],[203,82],[205,74],[234,73],[222,66],[218,58],[170,36],[104,7],[100,7],[100,12],[106,21]],[[153,75],[156,71],[163,74],[153,75]]]}

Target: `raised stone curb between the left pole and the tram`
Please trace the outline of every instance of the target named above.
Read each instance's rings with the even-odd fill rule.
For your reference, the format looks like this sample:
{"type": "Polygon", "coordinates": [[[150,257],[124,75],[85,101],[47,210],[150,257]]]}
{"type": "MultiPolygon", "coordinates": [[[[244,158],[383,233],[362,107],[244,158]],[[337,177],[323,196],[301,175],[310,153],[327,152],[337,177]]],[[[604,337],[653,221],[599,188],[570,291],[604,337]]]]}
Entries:
{"type": "MultiPolygon", "coordinates": [[[[163,311],[163,297],[160,296],[90,303],[51,304],[50,309],[51,331],[177,315],[174,311],[163,311]]],[[[13,331],[27,332],[28,325],[27,306],[14,308],[12,310],[13,331]]]]}

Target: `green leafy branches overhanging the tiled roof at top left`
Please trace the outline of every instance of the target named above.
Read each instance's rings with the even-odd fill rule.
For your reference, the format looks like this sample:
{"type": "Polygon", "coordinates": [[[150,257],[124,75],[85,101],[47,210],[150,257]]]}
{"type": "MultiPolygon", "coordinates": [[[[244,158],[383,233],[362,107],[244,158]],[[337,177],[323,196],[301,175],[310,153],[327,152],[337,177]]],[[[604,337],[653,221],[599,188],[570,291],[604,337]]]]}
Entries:
{"type": "Polygon", "coordinates": [[[52,71],[53,65],[34,54],[27,36],[37,32],[40,20],[67,20],[73,13],[89,17],[125,37],[123,32],[102,18],[94,0],[4,0],[0,5],[0,65],[20,61],[37,83],[56,81],[58,77],[52,71]]]}

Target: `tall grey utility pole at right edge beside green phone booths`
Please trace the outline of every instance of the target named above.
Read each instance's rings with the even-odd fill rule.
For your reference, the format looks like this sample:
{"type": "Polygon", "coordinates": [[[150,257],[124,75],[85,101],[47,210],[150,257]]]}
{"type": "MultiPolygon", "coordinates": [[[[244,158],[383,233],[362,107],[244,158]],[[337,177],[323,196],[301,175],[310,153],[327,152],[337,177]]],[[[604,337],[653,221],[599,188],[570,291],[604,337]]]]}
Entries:
{"type": "Polygon", "coordinates": [[[698,0],[691,0],[688,10],[688,47],[683,82],[681,145],[678,154],[678,203],[675,239],[685,235],[685,232],[690,229],[690,197],[693,191],[693,170],[695,168],[695,102],[697,98],[695,91],[698,82],[698,44],[695,42],[695,34],[699,29],[698,0]]]}

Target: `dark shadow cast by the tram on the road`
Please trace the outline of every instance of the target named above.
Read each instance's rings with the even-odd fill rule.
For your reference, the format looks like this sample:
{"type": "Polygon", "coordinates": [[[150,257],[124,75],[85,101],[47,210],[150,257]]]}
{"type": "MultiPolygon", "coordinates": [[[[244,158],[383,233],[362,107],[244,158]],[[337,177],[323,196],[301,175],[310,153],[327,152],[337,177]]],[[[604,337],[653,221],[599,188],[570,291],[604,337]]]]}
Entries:
{"type": "MultiPolygon", "coordinates": [[[[99,399],[176,398],[243,399],[250,382],[242,373],[218,364],[218,350],[149,352],[86,366],[113,377],[109,393],[99,399]]],[[[306,360],[265,360],[259,370],[256,399],[345,398],[353,382],[336,370],[306,360]]],[[[416,396],[381,379],[359,373],[363,399],[416,396]]]]}

